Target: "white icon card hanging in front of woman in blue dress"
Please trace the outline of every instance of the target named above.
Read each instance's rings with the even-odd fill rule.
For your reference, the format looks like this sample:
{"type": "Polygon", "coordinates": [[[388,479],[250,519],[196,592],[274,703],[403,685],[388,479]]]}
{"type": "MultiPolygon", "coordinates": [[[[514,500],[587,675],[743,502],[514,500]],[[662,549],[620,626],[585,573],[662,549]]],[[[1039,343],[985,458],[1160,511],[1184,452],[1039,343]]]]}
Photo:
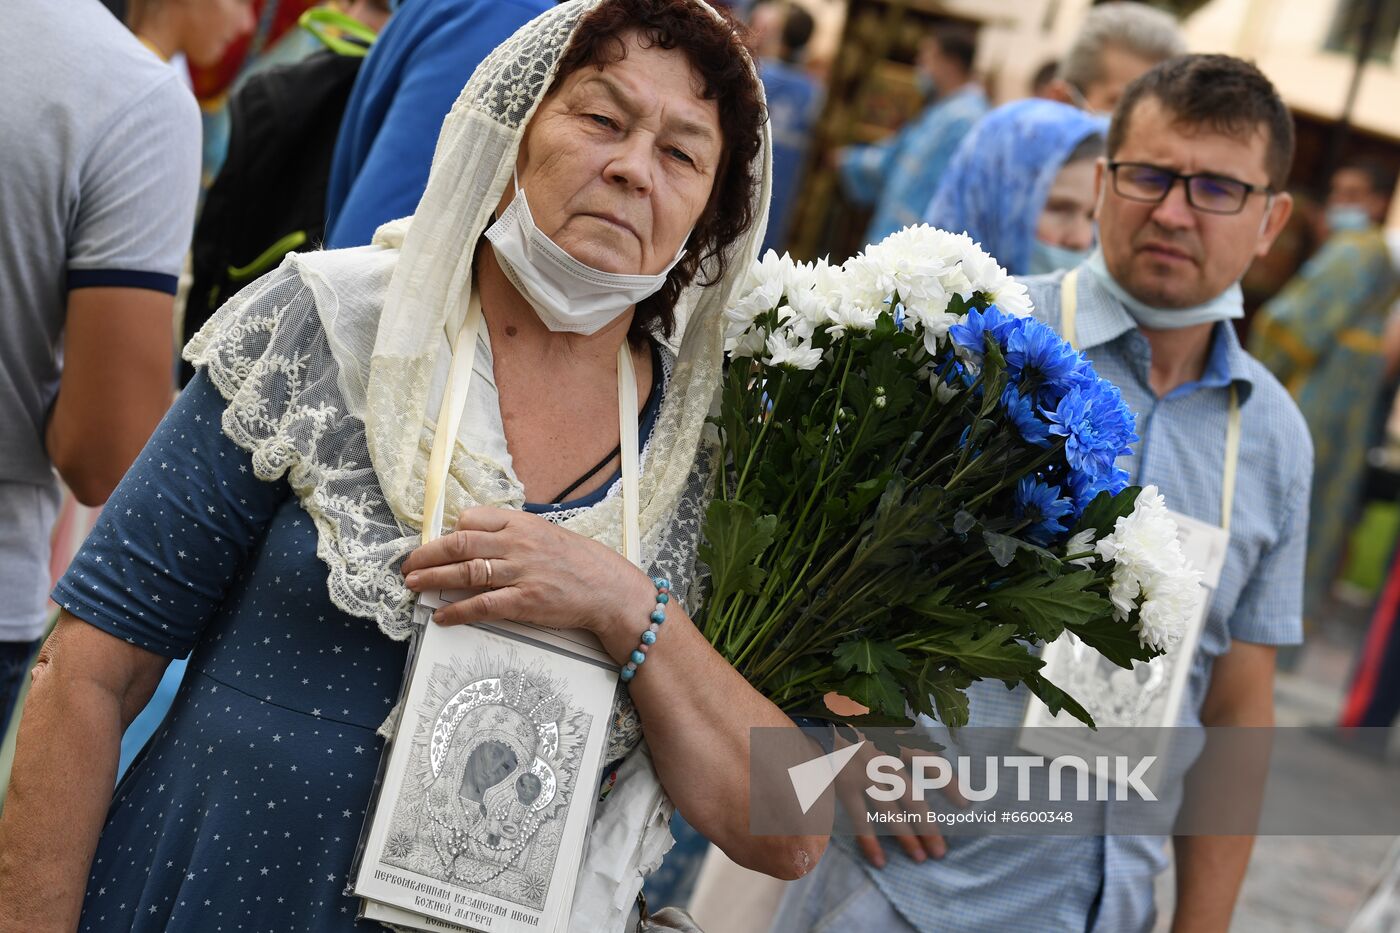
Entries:
{"type": "Polygon", "coordinates": [[[356,894],[483,933],[566,929],[617,671],[540,635],[424,629],[356,894]]]}

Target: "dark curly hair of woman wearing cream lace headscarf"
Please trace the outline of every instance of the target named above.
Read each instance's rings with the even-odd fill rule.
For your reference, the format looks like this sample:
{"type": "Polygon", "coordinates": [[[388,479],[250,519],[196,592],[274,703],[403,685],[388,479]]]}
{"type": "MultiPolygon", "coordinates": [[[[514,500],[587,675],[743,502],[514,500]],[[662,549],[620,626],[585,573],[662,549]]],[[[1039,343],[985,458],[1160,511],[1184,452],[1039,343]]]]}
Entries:
{"type": "Polygon", "coordinates": [[[728,272],[729,247],[755,221],[753,193],[760,179],[753,160],[763,146],[767,113],[743,49],[743,27],[725,10],[715,7],[711,13],[696,0],[605,0],[574,31],[554,87],[580,69],[602,69],[623,60],[626,36],[633,32],[641,35],[645,48],[676,49],[686,56],[704,84],[703,97],[718,104],[722,136],[714,189],[690,234],[685,258],[657,294],[637,303],[627,338],[640,343],[648,333],[671,336],[676,301],[701,266],[708,277],[700,284],[714,284],[728,272]]]}

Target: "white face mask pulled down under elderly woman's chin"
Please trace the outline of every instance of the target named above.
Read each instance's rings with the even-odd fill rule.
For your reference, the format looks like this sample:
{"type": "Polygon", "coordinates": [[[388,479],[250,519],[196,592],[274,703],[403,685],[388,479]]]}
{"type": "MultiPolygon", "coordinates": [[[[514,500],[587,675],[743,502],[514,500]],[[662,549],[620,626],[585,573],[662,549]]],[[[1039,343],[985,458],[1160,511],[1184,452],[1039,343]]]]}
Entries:
{"type": "Polygon", "coordinates": [[[518,181],[515,198],[487,227],[486,238],[505,277],[556,333],[596,333],[643,298],[661,291],[666,275],[686,255],[682,245],[671,265],[654,276],[594,269],[539,231],[518,181]]]}

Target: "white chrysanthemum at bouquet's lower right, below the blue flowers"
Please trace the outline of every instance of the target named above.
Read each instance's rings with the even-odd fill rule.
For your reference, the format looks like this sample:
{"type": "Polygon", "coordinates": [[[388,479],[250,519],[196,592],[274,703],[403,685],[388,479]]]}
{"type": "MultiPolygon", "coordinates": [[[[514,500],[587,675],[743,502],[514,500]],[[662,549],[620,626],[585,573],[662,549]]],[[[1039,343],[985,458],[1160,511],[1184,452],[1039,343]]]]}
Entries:
{"type": "Polygon", "coordinates": [[[1114,618],[1127,621],[1141,601],[1134,630],[1142,644],[1159,651],[1176,644],[1204,594],[1201,573],[1186,563],[1176,523],[1156,486],[1142,488],[1133,511],[1119,518],[1096,551],[1113,560],[1109,601],[1114,618]]]}

